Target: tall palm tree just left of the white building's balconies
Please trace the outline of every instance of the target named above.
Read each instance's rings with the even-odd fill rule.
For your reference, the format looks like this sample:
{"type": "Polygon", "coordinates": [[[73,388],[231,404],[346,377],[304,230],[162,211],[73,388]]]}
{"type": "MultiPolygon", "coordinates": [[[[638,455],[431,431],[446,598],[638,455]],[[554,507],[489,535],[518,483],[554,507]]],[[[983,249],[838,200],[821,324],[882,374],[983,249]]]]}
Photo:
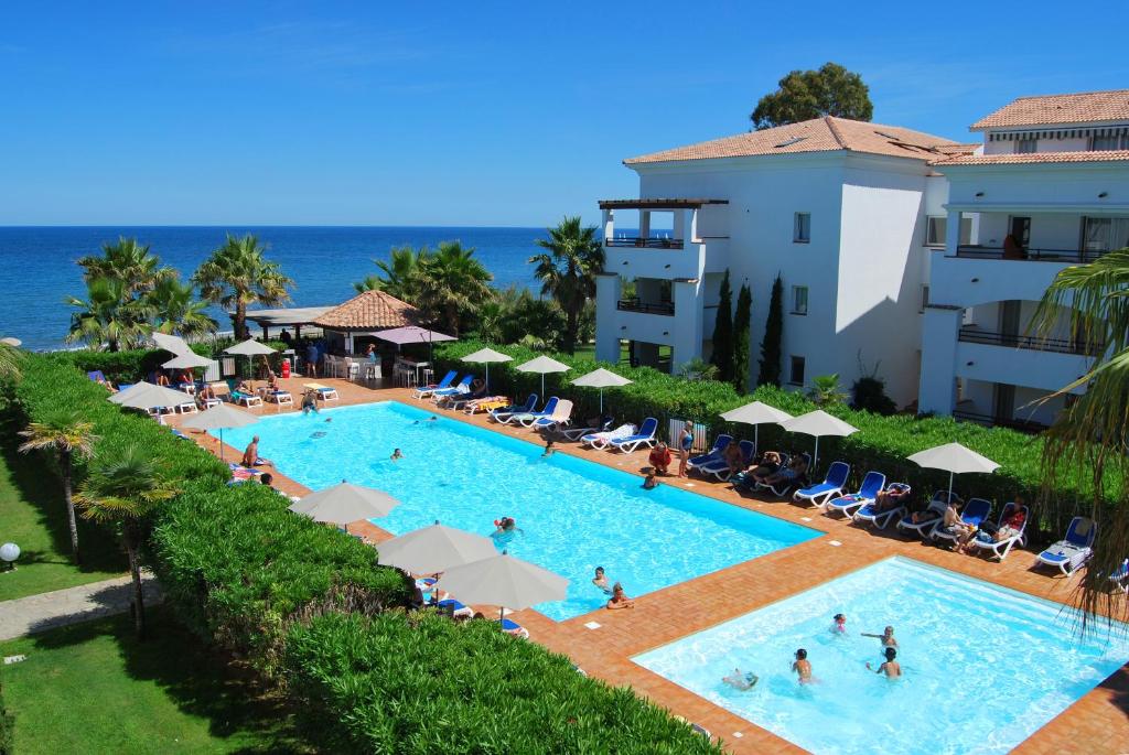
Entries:
{"type": "Polygon", "coordinates": [[[530,257],[537,267],[541,292],[552,296],[564,310],[564,351],[576,351],[580,309],[596,296],[596,273],[604,269],[604,247],[596,238],[596,227],[580,226],[580,216],[564,218],[548,229],[549,239],[539,238],[546,253],[530,257]]]}

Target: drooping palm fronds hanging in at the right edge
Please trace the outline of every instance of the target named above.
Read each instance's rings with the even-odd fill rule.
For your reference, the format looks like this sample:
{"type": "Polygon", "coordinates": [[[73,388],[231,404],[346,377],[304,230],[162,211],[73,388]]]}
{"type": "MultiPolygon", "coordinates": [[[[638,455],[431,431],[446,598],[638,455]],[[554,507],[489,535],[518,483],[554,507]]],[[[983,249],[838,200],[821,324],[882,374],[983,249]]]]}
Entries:
{"type": "Polygon", "coordinates": [[[1030,330],[1052,333],[1064,317],[1075,337],[1100,345],[1101,354],[1086,375],[1053,394],[1087,386],[1043,433],[1045,500],[1061,523],[1075,502],[1050,492],[1068,480],[1094,484],[1089,515],[1101,521],[1101,536],[1079,595],[1085,612],[1096,615],[1103,603],[1110,605],[1106,577],[1129,553],[1129,248],[1060,271],[1030,330]]]}

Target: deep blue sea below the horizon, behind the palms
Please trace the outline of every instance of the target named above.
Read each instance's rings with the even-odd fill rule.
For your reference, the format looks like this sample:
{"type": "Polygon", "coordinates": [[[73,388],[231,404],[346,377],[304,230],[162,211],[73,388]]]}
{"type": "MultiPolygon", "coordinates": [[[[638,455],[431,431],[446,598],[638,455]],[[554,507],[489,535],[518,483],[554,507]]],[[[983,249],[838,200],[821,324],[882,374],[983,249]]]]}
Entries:
{"type": "MultiPolygon", "coordinates": [[[[435,247],[458,239],[476,256],[501,288],[533,283],[527,260],[539,252],[534,239],[543,228],[391,228],[391,227],[0,227],[0,335],[15,335],[28,349],[63,345],[70,326],[67,295],[82,297],[79,257],[97,253],[119,236],[149,244],[166,264],[187,278],[218,246],[225,234],[257,234],[270,245],[268,256],[282,265],[297,288],[291,306],[341,304],[355,295],[352,283],[377,272],[374,258],[386,260],[402,244],[435,247]]],[[[230,319],[211,313],[220,330],[230,319]]]]}

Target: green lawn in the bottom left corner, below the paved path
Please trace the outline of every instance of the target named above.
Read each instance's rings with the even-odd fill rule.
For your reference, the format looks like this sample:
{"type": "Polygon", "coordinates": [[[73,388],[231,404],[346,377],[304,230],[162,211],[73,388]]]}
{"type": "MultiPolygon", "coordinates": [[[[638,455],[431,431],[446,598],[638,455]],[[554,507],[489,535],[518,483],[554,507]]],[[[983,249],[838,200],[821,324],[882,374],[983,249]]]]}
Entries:
{"type": "Polygon", "coordinates": [[[165,608],[138,642],[128,615],[0,644],[16,752],[308,753],[291,717],[210,657],[165,608]]]}

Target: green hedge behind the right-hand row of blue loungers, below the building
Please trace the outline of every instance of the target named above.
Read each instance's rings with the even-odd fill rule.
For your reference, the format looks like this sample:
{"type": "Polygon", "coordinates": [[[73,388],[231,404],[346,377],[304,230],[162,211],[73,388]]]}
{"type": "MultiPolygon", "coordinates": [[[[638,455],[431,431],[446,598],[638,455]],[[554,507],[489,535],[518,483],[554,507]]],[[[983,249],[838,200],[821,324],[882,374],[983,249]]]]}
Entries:
{"type": "MultiPolygon", "coordinates": [[[[476,341],[460,341],[436,346],[436,372],[448,369],[475,372],[481,365],[460,361],[473,351],[492,345],[476,341]]],[[[530,393],[540,393],[541,376],[520,372],[518,365],[542,352],[522,346],[506,345],[492,348],[514,358],[510,362],[490,365],[490,384],[495,390],[524,400],[530,393]]],[[[594,388],[578,388],[568,381],[599,367],[601,363],[586,358],[552,354],[554,359],[571,366],[569,372],[545,376],[545,393],[571,398],[576,407],[575,418],[595,416],[598,412],[598,392],[594,388]]],[[[706,424],[711,434],[726,432],[737,438],[753,437],[753,428],[746,424],[727,423],[720,414],[751,401],[761,401],[793,415],[816,409],[804,395],[772,386],[761,386],[750,395],[739,395],[727,383],[716,380],[686,380],[672,377],[650,368],[630,368],[622,365],[609,366],[615,372],[633,380],[622,388],[604,390],[604,409],[616,422],[640,422],[645,416],[659,420],[659,432],[665,434],[671,419],[692,419],[706,424]]],[[[542,396],[544,401],[544,396],[542,396]]],[[[977,495],[995,500],[997,507],[1022,494],[1029,502],[1041,495],[1042,440],[1038,436],[1026,436],[1005,428],[984,428],[978,424],[957,422],[952,418],[916,418],[905,414],[883,416],[867,411],[852,410],[846,405],[825,407],[831,414],[849,422],[859,431],[846,438],[820,439],[820,472],[837,458],[851,464],[851,484],[861,481],[868,469],[883,472],[887,480],[910,483],[919,493],[948,485],[947,473],[922,469],[907,456],[933,446],[959,441],[983,454],[1001,466],[991,475],[957,476],[954,488],[965,497],[977,495]]],[[[813,439],[785,432],[776,424],[760,425],[761,448],[788,450],[811,450],[813,439]]],[[[1092,490],[1088,480],[1070,481],[1057,492],[1064,500],[1084,498],[1092,490]]],[[[998,510],[998,509],[997,509],[998,510]]],[[[1044,521],[1051,532],[1058,532],[1065,521],[1044,521]]]]}

